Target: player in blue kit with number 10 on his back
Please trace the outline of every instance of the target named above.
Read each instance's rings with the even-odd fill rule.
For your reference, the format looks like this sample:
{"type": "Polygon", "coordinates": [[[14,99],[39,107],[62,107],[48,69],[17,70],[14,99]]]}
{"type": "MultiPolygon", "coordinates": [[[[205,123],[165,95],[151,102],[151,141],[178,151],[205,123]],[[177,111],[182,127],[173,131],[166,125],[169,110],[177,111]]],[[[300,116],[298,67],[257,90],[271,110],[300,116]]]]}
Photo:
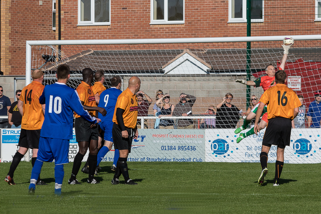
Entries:
{"type": "Polygon", "coordinates": [[[91,124],[101,120],[91,117],[80,102],[76,90],[66,86],[70,78],[70,69],[66,64],[57,67],[55,84],[47,85],[39,98],[40,104],[46,104],[45,119],[40,131],[38,157],[32,168],[29,193],[36,189],[36,181],[43,162],[55,160],[55,194],[61,194],[64,178],[64,166],[69,162],[69,140],[73,138],[74,112],[91,124]]]}

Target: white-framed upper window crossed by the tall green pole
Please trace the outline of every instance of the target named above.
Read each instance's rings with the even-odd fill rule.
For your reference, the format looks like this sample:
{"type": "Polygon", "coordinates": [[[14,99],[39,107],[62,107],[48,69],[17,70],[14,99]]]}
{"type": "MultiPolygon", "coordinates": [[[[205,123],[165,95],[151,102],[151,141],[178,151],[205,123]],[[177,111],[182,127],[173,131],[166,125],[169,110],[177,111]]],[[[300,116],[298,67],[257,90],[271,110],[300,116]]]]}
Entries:
{"type": "MultiPolygon", "coordinates": [[[[247,22],[246,3],[247,0],[229,0],[229,22],[247,22]]],[[[251,22],[263,22],[264,1],[252,0],[251,8],[251,22]]]]}

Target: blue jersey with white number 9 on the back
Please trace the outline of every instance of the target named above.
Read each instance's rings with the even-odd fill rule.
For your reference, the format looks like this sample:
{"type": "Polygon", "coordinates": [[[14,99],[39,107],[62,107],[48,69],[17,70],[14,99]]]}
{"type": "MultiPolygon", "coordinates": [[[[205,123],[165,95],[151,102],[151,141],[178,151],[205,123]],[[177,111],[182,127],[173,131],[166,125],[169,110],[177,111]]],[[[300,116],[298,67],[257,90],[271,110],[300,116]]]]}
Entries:
{"type": "Polygon", "coordinates": [[[98,107],[105,108],[107,111],[106,116],[102,116],[102,114],[98,113],[98,118],[101,119],[101,122],[113,121],[117,98],[121,93],[122,91],[115,87],[111,87],[110,89],[106,89],[101,92],[98,107]]]}

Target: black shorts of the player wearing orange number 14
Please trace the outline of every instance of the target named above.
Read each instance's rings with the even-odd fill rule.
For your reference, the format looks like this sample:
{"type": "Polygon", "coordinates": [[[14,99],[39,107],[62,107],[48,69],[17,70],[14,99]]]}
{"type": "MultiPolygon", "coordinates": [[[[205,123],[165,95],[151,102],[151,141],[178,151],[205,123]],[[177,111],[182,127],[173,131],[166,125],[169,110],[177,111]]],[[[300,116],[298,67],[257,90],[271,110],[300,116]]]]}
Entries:
{"type": "Polygon", "coordinates": [[[18,146],[23,148],[38,149],[39,148],[39,139],[40,139],[40,130],[27,130],[21,129],[18,146]]]}

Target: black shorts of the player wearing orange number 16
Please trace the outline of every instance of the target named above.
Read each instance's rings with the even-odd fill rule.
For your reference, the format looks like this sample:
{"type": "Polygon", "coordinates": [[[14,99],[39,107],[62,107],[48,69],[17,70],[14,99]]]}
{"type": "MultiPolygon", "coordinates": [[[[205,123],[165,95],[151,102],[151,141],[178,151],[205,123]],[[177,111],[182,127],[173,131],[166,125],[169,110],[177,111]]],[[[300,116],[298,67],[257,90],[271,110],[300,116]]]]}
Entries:
{"type": "Polygon", "coordinates": [[[291,119],[284,117],[269,119],[262,145],[268,147],[276,145],[280,149],[284,149],[285,146],[290,146],[291,128],[291,119]]]}

